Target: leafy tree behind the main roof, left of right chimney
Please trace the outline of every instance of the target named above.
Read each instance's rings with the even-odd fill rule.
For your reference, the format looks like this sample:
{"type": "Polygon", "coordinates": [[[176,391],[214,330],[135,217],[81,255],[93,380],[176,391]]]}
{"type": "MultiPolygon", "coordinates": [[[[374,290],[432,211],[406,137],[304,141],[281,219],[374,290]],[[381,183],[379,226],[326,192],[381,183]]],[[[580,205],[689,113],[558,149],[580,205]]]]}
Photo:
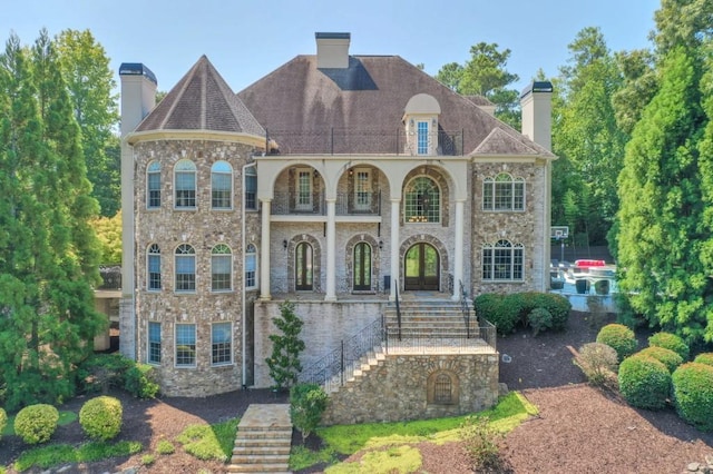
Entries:
{"type": "Polygon", "coordinates": [[[436,79],[463,96],[487,98],[496,105],[496,117],[519,130],[519,92],[507,87],[520,78],[507,71],[509,58],[509,49],[479,42],[470,47],[470,59],[463,66],[450,62],[438,71],[436,79]]]}

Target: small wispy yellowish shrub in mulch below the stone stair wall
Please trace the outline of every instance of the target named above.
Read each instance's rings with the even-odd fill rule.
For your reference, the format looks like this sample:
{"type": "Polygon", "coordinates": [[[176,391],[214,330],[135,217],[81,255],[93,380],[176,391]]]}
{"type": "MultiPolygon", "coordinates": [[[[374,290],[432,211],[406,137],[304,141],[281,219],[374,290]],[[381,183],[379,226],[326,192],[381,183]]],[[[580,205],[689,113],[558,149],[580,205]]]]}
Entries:
{"type": "Polygon", "coordinates": [[[467,416],[460,426],[460,438],[470,460],[471,467],[477,472],[497,472],[500,466],[498,451],[499,433],[490,424],[487,416],[467,416]]]}

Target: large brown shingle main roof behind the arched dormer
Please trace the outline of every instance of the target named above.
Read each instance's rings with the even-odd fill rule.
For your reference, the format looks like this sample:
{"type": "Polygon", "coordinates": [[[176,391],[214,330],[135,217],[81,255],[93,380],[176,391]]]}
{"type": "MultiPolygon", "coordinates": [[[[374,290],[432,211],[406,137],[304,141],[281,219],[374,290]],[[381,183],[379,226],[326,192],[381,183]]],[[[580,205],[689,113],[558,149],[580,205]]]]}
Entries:
{"type": "Polygon", "coordinates": [[[553,156],[480,110],[471,98],[453,92],[398,56],[352,56],[348,69],[318,69],[315,56],[297,56],[237,97],[283,152],[325,152],[325,137],[343,131],[344,136],[371,138],[344,144],[334,152],[390,154],[397,132],[403,130],[403,109],[417,93],[438,100],[442,110],[439,128],[458,136],[462,131],[466,154],[553,156]],[[497,137],[491,136],[495,129],[497,137]],[[379,134],[383,134],[381,139],[379,134]],[[312,138],[305,139],[307,136],[312,138]],[[485,149],[478,150],[488,137],[485,149]]]}

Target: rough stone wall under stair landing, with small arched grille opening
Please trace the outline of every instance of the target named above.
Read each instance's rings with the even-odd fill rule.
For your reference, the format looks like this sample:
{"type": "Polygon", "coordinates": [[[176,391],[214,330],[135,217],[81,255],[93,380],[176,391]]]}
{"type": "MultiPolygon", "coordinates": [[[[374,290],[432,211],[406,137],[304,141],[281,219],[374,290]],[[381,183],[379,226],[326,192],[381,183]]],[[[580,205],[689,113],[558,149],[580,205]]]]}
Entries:
{"type": "Polygon", "coordinates": [[[457,416],[498,401],[498,354],[388,355],[330,395],[322,424],[399,422],[457,416]],[[433,399],[433,379],[450,379],[450,403],[433,399]]]}

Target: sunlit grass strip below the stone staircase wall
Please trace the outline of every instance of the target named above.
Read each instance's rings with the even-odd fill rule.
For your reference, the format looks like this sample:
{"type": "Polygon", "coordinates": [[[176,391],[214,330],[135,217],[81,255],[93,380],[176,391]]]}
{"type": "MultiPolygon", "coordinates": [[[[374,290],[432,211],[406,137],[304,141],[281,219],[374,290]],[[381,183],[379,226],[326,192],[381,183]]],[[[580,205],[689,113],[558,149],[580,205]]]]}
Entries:
{"type": "MultiPolygon", "coordinates": [[[[492,427],[501,433],[507,433],[527,419],[536,415],[537,407],[530,404],[522,395],[510,392],[500,398],[498,404],[490,409],[479,412],[476,416],[487,416],[492,427]]],[[[400,423],[365,423],[361,425],[336,425],[318,428],[316,434],[322,438],[324,448],[319,452],[311,452],[304,447],[295,447],[290,455],[290,468],[299,471],[319,463],[333,463],[338,455],[349,456],[362,450],[375,450],[387,447],[381,453],[389,453],[392,448],[428,441],[442,444],[460,440],[459,431],[466,416],[448,418],[419,419],[400,423]]],[[[382,466],[390,466],[387,461],[397,457],[402,461],[411,460],[412,453],[408,450],[403,452],[392,452],[389,458],[381,458],[382,455],[364,456],[369,466],[362,465],[362,472],[375,470],[381,472],[382,466]],[[394,454],[397,453],[397,454],[394,454]],[[373,463],[369,461],[373,458],[373,463]]],[[[362,457],[363,462],[363,457],[362,457]]],[[[406,462],[406,461],[404,461],[406,462]]],[[[410,461],[406,462],[410,465],[410,461]]],[[[353,466],[344,466],[352,468],[353,466]]],[[[397,472],[398,468],[394,471],[397,472]]],[[[330,471],[335,473],[349,473],[352,471],[330,471]]],[[[372,471],[369,471],[372,472],[372,471]]],[[[385,471],[390,472],[390,471],[385,471]]]]}

